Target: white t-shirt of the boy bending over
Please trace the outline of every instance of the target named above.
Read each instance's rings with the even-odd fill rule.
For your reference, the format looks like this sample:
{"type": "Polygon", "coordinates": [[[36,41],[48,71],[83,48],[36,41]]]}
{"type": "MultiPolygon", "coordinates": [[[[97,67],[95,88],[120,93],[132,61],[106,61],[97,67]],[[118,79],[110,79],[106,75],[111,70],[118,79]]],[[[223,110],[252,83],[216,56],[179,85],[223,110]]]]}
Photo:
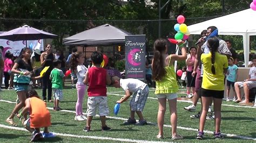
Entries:
{"type": "Polygon", "coordinates": [[[120,87],[122,87],[124,91],[129,89],[130,92],[137,92],[139,89],[144,89],[146,85],[147,84],[143,81],[134,78],[120,78],[120,87]]]}

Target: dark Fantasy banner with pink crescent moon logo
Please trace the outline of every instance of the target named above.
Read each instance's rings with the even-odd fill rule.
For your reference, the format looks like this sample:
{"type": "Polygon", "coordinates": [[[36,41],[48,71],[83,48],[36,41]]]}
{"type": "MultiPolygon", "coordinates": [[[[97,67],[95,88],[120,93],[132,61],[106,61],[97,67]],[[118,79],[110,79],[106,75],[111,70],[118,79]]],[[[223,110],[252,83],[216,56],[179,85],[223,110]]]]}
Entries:
{"type": "Polygon", "coordinates": [[[125,36],[125,77],[145,81],[145,35],[125,36]]]}

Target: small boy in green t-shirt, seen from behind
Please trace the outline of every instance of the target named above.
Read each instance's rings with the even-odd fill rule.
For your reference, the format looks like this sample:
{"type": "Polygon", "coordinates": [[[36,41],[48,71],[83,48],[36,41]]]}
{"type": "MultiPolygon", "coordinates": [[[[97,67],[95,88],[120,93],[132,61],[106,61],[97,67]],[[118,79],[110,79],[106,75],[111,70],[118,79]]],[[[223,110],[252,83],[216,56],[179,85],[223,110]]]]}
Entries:
{"type": "Polygon", "coordinates": [[[50,74],[50,80],[52,83],[52,91],[53,91],[53,99],[54,99],[54,106],[53,110],[59,111],[62,110],[59,108],[59,101],[63,98],[63,78],[64,74],[63,71],[60,70],[61,66],[60,60],[54,60],[53,61],[53,69],[50,74]]]}

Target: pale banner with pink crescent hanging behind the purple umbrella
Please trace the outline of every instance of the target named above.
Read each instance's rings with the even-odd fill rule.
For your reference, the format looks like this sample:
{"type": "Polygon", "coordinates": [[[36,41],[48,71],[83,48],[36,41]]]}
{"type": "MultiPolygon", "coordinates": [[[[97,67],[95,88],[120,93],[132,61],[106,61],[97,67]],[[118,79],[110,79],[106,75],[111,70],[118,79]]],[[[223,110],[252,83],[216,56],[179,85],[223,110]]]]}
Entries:
{"type": "Polygon", "coordinates": [[[44,51],[43,40],[24,40],[24,41],[10,41],[5,39],[0,39],[0,46],[4,47],[3,56],[6,52],[11,52],[14,56],[18,56],[21,50],[26,47],[29,47],[32,51],[35,49],[39,49],[40,51],[44,51]]]}

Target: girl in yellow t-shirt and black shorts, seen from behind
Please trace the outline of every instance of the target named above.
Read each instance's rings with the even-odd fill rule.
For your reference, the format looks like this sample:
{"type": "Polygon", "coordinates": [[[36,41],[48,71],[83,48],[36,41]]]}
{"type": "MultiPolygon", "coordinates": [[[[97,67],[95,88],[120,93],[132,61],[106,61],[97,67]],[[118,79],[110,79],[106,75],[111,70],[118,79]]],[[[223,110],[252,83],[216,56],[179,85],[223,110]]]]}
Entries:
{"type": "Polygon", "coordinates": [[[223,138],[220,133],[221,103],[224,98],[224,74],[227,72],[227,56],[218,53],[219,39],[212,37],[207,41],[210,53],[201,55],[203,64],[203,82],[201,86],[201,103],[203,109],[199,120],[197,139],[204,138],[204,126],[209,106],[214,105],[215,139],[223,138]]]}

